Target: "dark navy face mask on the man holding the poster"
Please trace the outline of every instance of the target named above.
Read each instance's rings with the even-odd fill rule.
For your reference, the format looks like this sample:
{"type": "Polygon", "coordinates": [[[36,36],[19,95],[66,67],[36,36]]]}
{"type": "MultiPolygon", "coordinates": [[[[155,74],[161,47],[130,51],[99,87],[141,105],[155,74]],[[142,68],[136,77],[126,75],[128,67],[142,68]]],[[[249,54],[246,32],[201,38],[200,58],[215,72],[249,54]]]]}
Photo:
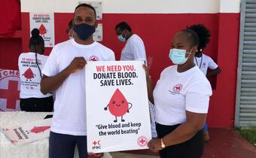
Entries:
{"type": "Polygon", "coordinates": [[[86,40],[95,32],[95,26],[90,26],[86,23],[74,25],[74,31],[81,40],[86,40]]]}

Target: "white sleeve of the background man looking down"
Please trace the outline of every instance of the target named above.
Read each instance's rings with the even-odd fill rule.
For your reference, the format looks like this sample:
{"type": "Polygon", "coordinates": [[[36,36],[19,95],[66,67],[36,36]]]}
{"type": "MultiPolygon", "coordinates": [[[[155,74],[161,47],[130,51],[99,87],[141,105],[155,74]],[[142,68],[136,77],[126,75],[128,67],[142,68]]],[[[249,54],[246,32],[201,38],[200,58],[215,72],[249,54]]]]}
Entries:
{"type": "Polygon", "coordinates": [[[144,44],[140,41],[130,44],[135,60],[147,61],[144,44]]]}

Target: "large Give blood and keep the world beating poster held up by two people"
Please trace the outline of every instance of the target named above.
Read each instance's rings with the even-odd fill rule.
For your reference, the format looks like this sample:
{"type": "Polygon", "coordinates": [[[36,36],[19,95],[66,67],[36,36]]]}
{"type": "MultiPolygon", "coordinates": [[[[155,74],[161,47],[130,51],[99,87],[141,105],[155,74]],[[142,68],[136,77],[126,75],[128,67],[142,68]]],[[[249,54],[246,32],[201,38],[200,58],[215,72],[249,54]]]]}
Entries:
{"type": "Polygon", "coordinates": [[[147,149],[151,139],[145,70],[141,61],[87,62],[87,150],[147,149]]]}

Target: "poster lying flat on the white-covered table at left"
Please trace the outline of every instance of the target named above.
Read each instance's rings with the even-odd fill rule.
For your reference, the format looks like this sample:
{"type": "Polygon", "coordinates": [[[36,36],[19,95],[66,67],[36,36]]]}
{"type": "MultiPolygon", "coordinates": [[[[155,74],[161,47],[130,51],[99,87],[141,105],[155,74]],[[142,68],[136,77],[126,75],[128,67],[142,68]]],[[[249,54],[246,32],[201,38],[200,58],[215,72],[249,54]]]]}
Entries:
{"type": "Polygon", "coordinates": [[[23,126],[15,126],[12,128],[4,127],[2,128],[2,132],[12,144],[26,144],[43,138],[49,138],[50,122],[51,118],[37,120],[23,126]]]}

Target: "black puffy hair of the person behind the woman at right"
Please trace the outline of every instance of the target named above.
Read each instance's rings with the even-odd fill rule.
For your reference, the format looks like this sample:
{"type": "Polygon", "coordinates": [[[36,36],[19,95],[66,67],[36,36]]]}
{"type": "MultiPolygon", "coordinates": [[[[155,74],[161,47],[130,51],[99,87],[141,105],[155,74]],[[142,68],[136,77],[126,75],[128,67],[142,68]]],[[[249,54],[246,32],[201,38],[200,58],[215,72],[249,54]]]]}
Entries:
{"type": "Polygon", "coordinates": [[[187,27],[187,29],[192,29],[194,30],[194,32],[197,32],[200,41],[200,44],[198,45],[198,50],[201,52],[209,43],[211,32],[203,24],[192,25],[187,27]]]}

